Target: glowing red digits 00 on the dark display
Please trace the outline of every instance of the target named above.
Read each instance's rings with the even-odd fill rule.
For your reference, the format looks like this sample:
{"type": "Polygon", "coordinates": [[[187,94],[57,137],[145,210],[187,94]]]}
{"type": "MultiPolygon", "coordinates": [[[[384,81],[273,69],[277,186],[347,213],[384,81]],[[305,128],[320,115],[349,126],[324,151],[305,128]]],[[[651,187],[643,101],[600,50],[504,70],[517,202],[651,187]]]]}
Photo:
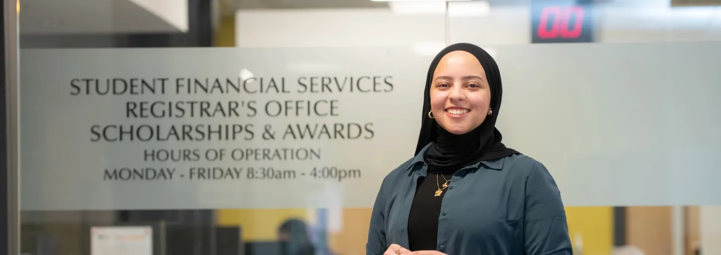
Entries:
{"type": "Polygon", "coordinates": [[[541,11],[541,20],[539,21],[538,35],[542,39],[562,38],[578,38],[583,29],[583,7],[568,6],[561,9],[559,6],[547,6],[541,11]],[[568,21],[571,14],[575,14],[575,24],[573,29],[568,30],[568,21]],[[553,26],[548,29],[548,17],[553,15],[553,26]]]}

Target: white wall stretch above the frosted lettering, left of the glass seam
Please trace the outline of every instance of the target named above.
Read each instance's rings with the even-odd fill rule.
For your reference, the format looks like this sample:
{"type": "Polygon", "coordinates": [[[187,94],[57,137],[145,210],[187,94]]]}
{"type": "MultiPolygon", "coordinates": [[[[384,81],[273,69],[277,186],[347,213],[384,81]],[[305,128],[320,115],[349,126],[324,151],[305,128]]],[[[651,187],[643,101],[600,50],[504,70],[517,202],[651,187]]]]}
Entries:
{"type": "Polygon", "coordinates": [[[389,9],[241,10],[239,47],[411,46],[443,42],[443,16],[399,17],[389,9]]]}

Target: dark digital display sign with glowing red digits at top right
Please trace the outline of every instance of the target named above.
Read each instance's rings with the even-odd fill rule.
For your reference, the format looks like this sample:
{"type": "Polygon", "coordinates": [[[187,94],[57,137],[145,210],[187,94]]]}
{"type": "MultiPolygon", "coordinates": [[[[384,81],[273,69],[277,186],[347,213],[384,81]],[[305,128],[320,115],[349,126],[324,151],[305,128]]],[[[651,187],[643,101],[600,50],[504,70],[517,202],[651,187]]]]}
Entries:
{"type": "Polygon", "coordinates": [[[593,42],[592,11],[583,3],[534,1],[531,42],[593,42]]]}

